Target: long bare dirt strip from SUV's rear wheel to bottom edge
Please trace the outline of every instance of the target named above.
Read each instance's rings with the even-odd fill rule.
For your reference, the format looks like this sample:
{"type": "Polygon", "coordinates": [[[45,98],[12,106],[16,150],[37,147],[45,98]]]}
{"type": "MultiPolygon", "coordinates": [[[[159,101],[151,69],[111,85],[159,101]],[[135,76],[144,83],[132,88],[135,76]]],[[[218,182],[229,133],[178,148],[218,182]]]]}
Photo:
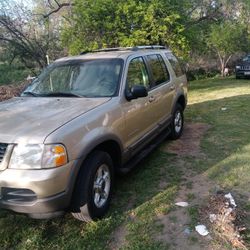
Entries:
{"type": "MultiPolygon", "coordinates": [[[[157,218],[158,223],[164,226],[157,239],[165,242],[170,249],[226,249],[217,245],[211,234],[203,237],[194,229],[194,223],[198,223],[198,221],[194,221],[194,217],[198,217],[198,208],[208,199],[210,192],[216,189],[216,185],[205,175],[196,175],[191,171],[188,162],[184,159],[185,156],[196,158],[205,156],[201,151],[200,142],[209,128],[210,126],[204,123],[188,123],[185,125],[182,137],[177,141],[167,143],[163,149],[168,153],[177,155],[176,167],[182,168],[184,173],[184,180],[180,185],[174,203],[188,202],[188,207],[174,206],[169,214],[159,215],[157,218]]],[[[164,182],[160,183],[160,188],[163,188],[163,186],[164,182]]],[[[198,218],[196,219],[198,220],[198,218]]]]}

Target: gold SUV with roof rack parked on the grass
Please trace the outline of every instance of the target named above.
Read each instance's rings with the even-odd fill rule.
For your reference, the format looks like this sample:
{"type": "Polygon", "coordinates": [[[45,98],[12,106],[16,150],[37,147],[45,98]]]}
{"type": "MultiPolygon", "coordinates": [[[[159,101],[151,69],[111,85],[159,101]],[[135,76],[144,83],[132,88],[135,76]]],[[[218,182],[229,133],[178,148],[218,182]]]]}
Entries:
{"type": "Polygon", "coordinates": [[[0,104],[0,207],[101,218],[116,173],[183,130],[187,79],[162,46],[66,57],[0,104]]]}

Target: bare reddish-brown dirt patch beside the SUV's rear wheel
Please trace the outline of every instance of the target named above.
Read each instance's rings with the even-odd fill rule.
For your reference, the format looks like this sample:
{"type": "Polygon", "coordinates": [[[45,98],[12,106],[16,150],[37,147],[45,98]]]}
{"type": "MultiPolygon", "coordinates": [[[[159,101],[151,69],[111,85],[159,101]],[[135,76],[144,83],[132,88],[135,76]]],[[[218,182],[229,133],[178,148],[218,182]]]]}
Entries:
{"type": "Polygon", "coordinates": [[[209,128],[210,126],[205,123],[187,123],[182,137],[166,144],[164,151],[180,156],[204,156],[200,149],[200,141],[209,128]]]}

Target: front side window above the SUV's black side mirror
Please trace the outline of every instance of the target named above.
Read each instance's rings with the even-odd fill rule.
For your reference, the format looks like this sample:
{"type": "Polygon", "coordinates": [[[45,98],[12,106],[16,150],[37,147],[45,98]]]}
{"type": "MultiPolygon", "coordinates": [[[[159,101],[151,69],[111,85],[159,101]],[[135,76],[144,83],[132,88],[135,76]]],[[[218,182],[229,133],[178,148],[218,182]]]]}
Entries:
{"type": "Polygon", "coordinates": [[[143,85],[149,88],[149,78],[142,57],[134,58],[128,68],[127,84],[131,88],[134,85],[143,85]]]}

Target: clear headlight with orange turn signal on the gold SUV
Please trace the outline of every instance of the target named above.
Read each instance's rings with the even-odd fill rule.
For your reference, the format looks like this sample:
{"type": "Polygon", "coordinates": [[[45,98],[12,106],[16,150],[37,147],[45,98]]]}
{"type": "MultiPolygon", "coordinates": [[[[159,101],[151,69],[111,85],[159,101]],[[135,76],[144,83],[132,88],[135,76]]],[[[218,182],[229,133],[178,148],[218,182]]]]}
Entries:
{"type": "Polygon", "coordinates": [[[18,144],[12,152],[9,168],[54,168],[65,165],[67,161],[66,149],[61,144],[18,144]]]}

